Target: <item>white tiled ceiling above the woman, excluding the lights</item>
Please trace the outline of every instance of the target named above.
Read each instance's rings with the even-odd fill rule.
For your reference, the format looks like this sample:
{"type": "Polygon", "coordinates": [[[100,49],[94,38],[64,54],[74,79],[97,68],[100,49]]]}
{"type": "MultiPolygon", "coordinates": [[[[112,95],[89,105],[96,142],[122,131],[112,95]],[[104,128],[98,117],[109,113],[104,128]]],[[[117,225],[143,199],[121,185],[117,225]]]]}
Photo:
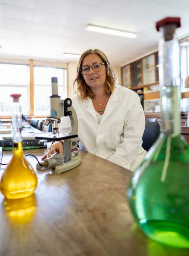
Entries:
{"type": "Polygon", "coordinates": [[[63,52],[103,50],[114,66],[123,66],[158,48],[155,22],[181,17],[178,37],[189,34],[189,0],[0,0],[0,57],[50,61],[63,52]],[[136,32],[121,38],[86,31],[87,24],[136,32]]]}

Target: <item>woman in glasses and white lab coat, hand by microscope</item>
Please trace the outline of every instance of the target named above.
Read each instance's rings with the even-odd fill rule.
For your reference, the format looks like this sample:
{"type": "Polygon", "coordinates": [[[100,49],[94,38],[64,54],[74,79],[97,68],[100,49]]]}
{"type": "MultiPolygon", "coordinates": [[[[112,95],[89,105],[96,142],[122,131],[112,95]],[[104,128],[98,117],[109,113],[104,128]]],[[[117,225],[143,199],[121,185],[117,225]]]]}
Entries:
{"type": "MultiPolygon", "coordinates": [[[[108,58],[98,49],[81,55],[74,87],[80,148],[135,169],[146,154],[141,147],[145,117],[139,96],[117,84],[108,58]]],[[[63,153],[61,142],[52,144],[42,159],[57,151],[63,153]]]]}

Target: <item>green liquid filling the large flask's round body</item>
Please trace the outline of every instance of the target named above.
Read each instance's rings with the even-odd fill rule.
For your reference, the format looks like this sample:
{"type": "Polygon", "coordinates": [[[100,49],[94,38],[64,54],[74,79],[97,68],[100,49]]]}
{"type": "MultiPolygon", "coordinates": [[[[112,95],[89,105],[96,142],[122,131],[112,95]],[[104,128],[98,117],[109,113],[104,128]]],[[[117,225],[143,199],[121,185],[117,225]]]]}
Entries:
{"type": "Polygon", "coordinates": [[[128,187],[135,219],[149,238],[189,248],[189,146],[160,135],[128,187]]]}

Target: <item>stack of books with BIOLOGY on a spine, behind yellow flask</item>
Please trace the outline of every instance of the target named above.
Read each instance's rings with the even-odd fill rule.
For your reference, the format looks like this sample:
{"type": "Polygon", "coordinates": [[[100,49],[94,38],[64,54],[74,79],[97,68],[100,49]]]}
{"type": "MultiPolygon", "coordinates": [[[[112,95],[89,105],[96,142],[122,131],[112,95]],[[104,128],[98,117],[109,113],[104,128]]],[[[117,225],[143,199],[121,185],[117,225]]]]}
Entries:
{"type": "MultiPolygon", "coordinates": [[[[0,140],[0,147],[2,150],[12,150],[13,149],[13,141],[12,137],[3,137],[3,140],[0,140]]],[[[36,148],[46,148],[47,141],[35,139],[34,136],[22,137],[23,139],[23,149],[36,149],[36,148]]]]}

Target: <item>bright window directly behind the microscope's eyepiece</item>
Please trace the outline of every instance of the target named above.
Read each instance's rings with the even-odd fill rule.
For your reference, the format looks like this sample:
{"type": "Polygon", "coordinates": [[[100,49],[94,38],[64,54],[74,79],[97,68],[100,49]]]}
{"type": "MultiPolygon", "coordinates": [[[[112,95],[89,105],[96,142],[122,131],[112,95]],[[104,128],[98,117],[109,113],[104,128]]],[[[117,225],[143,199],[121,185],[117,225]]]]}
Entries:
{"type": "Polygon", "coordinates": [[[50,115],[51,78],[57,77],[58,95],[67,95],[67,72],[63,68],[34,67],[34,115],[50,115]]]}

